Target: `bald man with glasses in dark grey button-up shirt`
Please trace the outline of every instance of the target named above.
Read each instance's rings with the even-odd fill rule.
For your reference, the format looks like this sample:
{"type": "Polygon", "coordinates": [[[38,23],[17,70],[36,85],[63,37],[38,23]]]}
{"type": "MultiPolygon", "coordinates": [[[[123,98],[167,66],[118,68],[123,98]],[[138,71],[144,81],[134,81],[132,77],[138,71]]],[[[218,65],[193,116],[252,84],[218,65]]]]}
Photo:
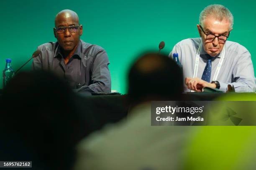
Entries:
{"type": "Polygon", "coordinates": [[[111,78],[106,51],[83,40],[83,27],[77,13],[62,10],[56,15],[54,36],[57,42],[38,46],[33,70],[54,72],[77,92],[110,92],[111,78]]]}

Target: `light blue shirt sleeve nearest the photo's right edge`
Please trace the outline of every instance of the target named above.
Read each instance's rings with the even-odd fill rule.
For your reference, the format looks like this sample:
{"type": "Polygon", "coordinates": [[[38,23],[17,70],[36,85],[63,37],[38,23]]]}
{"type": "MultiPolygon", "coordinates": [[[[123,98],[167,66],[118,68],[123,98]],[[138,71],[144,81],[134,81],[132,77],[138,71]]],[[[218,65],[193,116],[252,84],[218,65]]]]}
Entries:
{"type": "Polygon", "coordinates": [[[236,67],[233,68],[232,79],[231,83],[220,82],[220,90],[226,92],[228,85],[231,85],[235,87],[236,92],[255,92],[256,79],[251,54],[248,50],[238,58],[236,67]]]}

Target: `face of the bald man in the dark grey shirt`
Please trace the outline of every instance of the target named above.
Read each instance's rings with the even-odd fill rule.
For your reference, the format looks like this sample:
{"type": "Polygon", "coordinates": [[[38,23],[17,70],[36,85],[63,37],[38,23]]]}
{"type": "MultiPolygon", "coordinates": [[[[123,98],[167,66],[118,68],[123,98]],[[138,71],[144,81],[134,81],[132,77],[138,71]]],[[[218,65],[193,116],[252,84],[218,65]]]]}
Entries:
{"type": "MultiPolygon", "coordinates": [[[[55,19],[55,27],[68,27],[72,25],[79,25],[79,20],[75,15],[70,13],[61,13],[55,19]]],[[[76,32],[70,32],[69,29],[65,29],[63,33],[54,31],[54,36],[57,38],[59,45],[64,51],[72,51],[77,47],[80,36],[82,35],[82,25],[77,28],[76,32]]]]}

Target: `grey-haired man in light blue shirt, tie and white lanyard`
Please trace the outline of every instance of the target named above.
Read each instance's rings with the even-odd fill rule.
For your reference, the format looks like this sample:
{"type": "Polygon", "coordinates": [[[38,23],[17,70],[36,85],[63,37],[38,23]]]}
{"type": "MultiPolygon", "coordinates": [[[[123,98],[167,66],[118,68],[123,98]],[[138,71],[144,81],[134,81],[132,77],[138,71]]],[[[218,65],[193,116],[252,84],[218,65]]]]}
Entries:
{"type": "Polygon", "coordinates": [[[170,55],[179,54],[185,77],[185,92],[203,87],[236,92],[256,90],[251,54],[242,45],[227,41],[233,29],[233,15],[223,5],[209,5],[200,13],[197,29],[201,38],[178,42],[170,55]]]}

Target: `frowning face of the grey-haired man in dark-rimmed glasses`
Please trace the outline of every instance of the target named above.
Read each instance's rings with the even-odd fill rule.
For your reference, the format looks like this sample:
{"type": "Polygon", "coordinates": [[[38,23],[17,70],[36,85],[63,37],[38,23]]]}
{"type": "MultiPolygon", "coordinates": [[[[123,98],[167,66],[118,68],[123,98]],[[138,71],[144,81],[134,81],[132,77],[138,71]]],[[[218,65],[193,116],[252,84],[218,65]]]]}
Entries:
{"type": "MultiPolygon", "coordinates": [[[[209,16],[205,18],[203,30],[206,34],[213,34],[213,35],[225,35],[228,36],[229,32],[232,30],[230,29],[230,23],[227,19],[223,19],[222,21],[219,21],[218,19],[209,16]]],[[[200,25],[197,25],[198,32],[200,36],[202,37],[202,44],[204,47],[205,52],[209,54],[212,57],[215,57],[218,55],[224,47],[225,42],[220,42],[218,40],[218,37],[216,37],[214,40],[210,41],[207,40],[205,33],[200,28],[200,25]]]]}

